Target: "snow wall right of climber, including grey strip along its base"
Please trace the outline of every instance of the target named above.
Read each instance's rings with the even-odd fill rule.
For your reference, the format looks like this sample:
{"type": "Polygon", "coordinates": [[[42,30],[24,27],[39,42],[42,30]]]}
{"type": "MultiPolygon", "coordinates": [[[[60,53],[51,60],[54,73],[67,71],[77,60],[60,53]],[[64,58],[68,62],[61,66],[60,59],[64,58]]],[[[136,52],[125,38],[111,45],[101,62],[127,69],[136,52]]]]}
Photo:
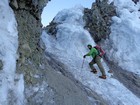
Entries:
{"type": "Polygon", "coordinates": [[[117,16],[112,18],[111,34],[103,43],[107,62],[115,77],[140,97],[140,2],[113,1],[117,16]]]}

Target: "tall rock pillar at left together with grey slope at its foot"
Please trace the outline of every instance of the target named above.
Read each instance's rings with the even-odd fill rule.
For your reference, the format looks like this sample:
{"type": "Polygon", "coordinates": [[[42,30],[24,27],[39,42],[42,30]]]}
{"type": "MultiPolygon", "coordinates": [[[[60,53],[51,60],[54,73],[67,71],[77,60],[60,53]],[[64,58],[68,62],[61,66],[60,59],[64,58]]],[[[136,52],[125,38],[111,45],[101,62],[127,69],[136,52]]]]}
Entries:
{"type": "Polygon", "coordinates": [[[41,13],[47,2],[11,0],[9,3],[18,24],[19,59],[16,72],[24,74],[24,104],[106,105],[100,96],[86,90],[69,76],[71,74],[65,72],[67,68],[63,64],[44,54],[44,49],[40,47],[41,13]]]}

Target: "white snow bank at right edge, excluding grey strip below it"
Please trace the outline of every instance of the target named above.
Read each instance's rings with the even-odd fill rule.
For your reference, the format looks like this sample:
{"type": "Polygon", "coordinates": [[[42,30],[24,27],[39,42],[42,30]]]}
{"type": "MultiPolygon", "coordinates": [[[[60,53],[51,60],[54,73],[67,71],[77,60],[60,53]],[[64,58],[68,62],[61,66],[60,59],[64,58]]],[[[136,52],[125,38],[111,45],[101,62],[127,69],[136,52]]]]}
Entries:
{"type": "Polygon", "coordinates": [[[140,2],[114,0],[114,4],[118,17],[112,18],[111,35],[105,44],[111,43],[112,49],[106,49],[106,54],[123,69],[140,75],[140,2]]]}

